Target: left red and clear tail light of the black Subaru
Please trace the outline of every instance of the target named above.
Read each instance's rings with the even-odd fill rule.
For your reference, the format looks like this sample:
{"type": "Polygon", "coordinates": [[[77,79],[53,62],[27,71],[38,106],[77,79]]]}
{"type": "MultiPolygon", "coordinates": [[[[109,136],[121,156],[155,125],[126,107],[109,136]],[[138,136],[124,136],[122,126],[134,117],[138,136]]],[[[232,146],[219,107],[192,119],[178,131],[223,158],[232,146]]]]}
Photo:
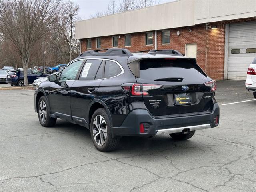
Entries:
{"type": "Polygon", "coordinates": [[[131,86],[128,86],[128,85],[122,86],[124,92],[126,92],[127,94],[129,93],[132,96],[149,96],[149,93],[148,93],[149,90],[159,89],[161,87],[162,85],[140,84],[140,83],[135,83],[135,84],[132,84],[131,86]]]}

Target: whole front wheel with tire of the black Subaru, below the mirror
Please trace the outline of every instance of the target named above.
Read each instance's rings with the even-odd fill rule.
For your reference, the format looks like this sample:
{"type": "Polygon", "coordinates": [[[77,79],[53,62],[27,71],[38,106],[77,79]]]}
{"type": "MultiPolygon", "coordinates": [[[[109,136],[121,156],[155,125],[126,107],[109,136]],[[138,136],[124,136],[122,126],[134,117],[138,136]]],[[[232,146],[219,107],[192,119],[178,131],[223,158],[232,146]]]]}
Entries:
{"type": "Polygon", "coordinates": [[[50,117],[50,107],[45,96],[40,97],[37,105],[38,120],[44,127],[51,127],[56,124],[56,118],[50,117]],[[41,110],[43,109],[43,110],[41,110]],[[43,114],[42,114],[43,111],[43,114]]]}

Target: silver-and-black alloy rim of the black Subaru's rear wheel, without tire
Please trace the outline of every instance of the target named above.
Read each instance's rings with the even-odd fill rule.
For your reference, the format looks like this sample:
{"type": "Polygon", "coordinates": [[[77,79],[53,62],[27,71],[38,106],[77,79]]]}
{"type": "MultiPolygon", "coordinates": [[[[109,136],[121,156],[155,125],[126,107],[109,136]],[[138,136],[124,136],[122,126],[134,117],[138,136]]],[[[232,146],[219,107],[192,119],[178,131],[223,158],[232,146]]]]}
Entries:
{"type": "Polygon", "coordinates": [[[93,120],[92,127],[93,138],[95,142],[102,146],[107,139],[107,124],[103,116],[97,115],[93,120]]]}

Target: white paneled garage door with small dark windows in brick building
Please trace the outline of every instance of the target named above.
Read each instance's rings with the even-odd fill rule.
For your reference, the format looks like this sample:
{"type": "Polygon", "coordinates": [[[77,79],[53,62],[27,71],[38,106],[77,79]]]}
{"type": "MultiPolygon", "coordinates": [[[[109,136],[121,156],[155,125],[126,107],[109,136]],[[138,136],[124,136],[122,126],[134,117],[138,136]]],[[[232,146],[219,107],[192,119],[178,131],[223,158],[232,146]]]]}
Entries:
{"type": "Polygon", "coordinates": [[[256,57],[256,22],[230,24],[228,79],[246,80],[248,66],[256,57]]]}

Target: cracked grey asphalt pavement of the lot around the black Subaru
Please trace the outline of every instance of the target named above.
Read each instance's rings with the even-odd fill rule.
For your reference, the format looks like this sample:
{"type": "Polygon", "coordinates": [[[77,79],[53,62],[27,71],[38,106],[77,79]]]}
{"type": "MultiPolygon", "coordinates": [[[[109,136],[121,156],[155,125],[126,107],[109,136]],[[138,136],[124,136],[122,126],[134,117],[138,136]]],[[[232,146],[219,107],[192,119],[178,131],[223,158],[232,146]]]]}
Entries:
{"type": "Polygon", "coordinates": [[[254,192],[256,100],[244,81],[217,85],[218,127],[186,141],[123,137],[106,153],[84,127],[40,126],[34,90],[0,90],[0,191],[254,192]]]}

